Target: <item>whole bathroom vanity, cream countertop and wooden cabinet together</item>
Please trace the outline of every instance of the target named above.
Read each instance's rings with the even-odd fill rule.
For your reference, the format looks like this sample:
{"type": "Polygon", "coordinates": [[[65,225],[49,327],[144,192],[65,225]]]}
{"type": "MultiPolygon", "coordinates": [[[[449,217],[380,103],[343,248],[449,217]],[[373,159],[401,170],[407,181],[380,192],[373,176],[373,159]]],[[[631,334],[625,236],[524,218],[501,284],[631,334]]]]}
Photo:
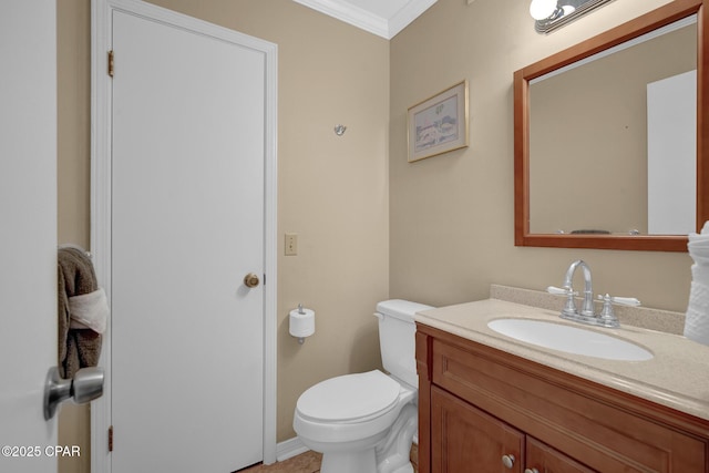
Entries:
{"type": "Polygon", "coordinates": [[[500,318],[574,325],[499,299],[417,315],[421,473],[709,472],[709,347],[588,328],[653,353],[608,360],[503,336],[500,318]]]}

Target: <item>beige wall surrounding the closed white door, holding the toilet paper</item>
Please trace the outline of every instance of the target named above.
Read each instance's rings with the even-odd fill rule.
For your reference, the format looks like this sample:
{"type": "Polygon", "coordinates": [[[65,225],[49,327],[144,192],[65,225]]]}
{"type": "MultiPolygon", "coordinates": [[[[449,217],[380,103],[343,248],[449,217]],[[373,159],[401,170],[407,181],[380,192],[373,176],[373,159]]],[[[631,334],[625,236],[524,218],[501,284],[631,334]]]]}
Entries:
{"type": "MultiPolygon", "coordinates": [[[[380,366],[377,301],[389,294],[389,42],[290,0],[154,3],[278,44],[278,440],[298,395],[380,366]],[[347,125],[338,137],[332,128],[347,125]],[[299,235],[282,256],[284,233],[299,235]],[[317,312],[304,346],[298,302],[317,312]]],[[[89,245],[90,1],[59,7],[60,241],[89,245]]],[[[66,429],[75,423],[66,421],[66,429]]],[[[88,429],[88,428],[86,428],[88,429]]],[[[70,442],[71,443],[71,442],[70,442]]]]}

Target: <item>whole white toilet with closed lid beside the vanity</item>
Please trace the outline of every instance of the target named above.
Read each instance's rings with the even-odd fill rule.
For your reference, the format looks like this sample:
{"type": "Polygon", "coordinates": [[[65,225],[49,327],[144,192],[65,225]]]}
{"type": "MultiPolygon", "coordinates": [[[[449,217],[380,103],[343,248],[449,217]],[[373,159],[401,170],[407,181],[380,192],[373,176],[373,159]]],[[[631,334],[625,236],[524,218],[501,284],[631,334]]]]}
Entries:
{"type": "Polygon", "coordinates": [[[294,429],[322,452],[321,473],[411,473],[418,431],[419,377],[413,315],[430,306],[393,299],[379,302],[379,370],[317,383],[298,399],[294,429]]]}

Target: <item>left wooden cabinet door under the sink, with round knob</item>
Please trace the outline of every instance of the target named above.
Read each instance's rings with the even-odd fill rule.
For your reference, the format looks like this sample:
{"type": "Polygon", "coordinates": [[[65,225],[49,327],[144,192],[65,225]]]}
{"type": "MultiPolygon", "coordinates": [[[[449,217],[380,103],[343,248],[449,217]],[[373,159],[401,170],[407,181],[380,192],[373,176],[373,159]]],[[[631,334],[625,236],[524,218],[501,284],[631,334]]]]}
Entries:
{"type": "Polygon", "coordinates": [[[524,471],[524,433],[435,387],[431,450],[432,473],[524,471]]]}

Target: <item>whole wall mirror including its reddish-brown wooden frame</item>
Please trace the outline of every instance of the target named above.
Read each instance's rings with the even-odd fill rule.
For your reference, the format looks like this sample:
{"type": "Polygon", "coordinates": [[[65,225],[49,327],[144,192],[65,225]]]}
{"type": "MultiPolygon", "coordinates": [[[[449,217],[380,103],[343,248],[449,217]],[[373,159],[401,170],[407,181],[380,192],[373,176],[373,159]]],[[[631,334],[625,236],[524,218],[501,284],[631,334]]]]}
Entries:
{"type": "Polygon", "coordinates": [[[514,73],[516,246],[687,251],[709,219],[703,2],[514,73]]]}

